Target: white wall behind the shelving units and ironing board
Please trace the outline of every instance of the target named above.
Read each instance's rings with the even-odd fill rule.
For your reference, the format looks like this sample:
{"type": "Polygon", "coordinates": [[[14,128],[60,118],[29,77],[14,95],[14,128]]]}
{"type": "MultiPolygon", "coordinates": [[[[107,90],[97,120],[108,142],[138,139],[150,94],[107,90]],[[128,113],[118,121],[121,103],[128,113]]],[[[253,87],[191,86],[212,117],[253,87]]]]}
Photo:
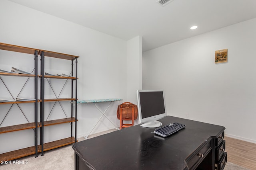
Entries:
{"type": "MultiPolygon", "coordinates": [[[[126,41],[7,0],[0,1],[0,23],[0,42],[2,43],[80,56],[78,58],[78,100],[104,98],[122,98],[126,100],[127,69],[120,64],[126,63],[127,61],[126,41]]],[[[11,66],[17,66],[21,69],[32,71],[34,68],[33,62],[33,57],[30,55],[8,53],[8,51],[3,50],[0,51],[0,68],[10,70],[11,66]]],[[[52,73],[66,72],[69,74],[70,62],[48,59],[48,61],[46,61],[46,70],[52,73]]],[[[12,86],[12,93],[15,96],[16,91],[22,88],[19,84],[22,84],[24,80],[20,80],[20,78],[16,77],[2,77],[5,82],[9,81],[6,84],[12,86]]],[[[53,80],[51,81],[53,82],[53,80]]],[[[60,84],[63,83],[64,82],[60,81],[60,84]]],[[[2,84],[1,81],[0,84],[2,84]]],[[[56,88],[56,91],[60,91],[60,84],[55,83],[54,88],[56,88]]],[[[0,96],[7,96],[8,93],[4,90],[4,86],[0,86],[0,96]]],[[[62,95],[70,95],[69,86],[70,85],[65,88],[62,95]]],[[[34,89],[33,80],[28,84],[27,88],[29,90],[34,89]]],[[[50,87],[48,87],[47,90],[51,91],[49,89],[50,87]]],[[[29,94],[25,90],[24,95],[33,96],[33,93],[29,94]]],[[[119,124],[116,118],[118,104],[120,104],[120,102],[114,102],[106,112],[116,125],[119,124]]],[[[46,106],[48,111],[50,111],[50,105],[53,104],[46,106]]],[[[64,102],[63,105],[65,111],[69,113],[70,107],[66,107],[69,103],[64,102]]],[[[107,105],[108,102],[99,104],[103,111],[106,109],[107,105]]],[[[32,109],[29,109],[31,107],[29,105],[24,104],[21,106],[24,112],[26,112],[27,117],[29,117],[28,119],[33,121],[33,106],[32,109]]],[[[39,106],[38,104],[38,107],[39,106]]],[[[3,116],[6,115],[8,107],[10,107],[10,105],[0,105],[0,121],[2,121],[3,116]]],[[[54,109],[57,112],[62,111],[60,106],[56,106],[54,109]]],[[[22,113],[20,113],[19,109],[15,106],[13,111],[16,110],[18,113],[9,113],[1,127],[15,125],[16,123],[19,124],[20,122],[17,122],[19,120],[22,123],[26,123],[26,119],[24,119],[22,113]]],[[[63,116],[64,113],[60,114],[63,116]]],[[[89,133],[100,116],[101,113],[96,109],[94,104],[78,104],[78,137],[89,133]]],[[[50,115],[50,119],[54,119],[55,117],[56,115],[54,113],[50,115]]],[[[113,128],[106,119],[100,124],[101,125],[97,126],[93,133],[113,128]]],[[[69,137],[69,127],[70,126],[67,124],[62,124],[45,128],[45,142],[69,137]]],[[[4,133],[0,136],[0,145],[4,146],[0,147],[0,153],[34,145],[34,132],[32,129],[4,133]]]]}

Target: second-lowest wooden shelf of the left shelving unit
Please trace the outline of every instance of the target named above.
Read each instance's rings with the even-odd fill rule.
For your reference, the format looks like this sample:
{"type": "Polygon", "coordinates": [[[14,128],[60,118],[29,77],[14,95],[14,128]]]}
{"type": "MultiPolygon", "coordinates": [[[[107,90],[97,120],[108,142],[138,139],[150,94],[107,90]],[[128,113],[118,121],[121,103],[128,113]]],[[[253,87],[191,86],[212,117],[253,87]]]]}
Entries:
{"type": "MultiPolygon", "coordinates": [[[[38,126],[39,123],[38,123],[38,126]]],[[[21,130],[25,130],[25,129],[32,129],[32,128],[36,128],[36,123],[24,123],[24,124],[20,124],[20,125],[13,125],[13,126],[6,126],[6,127],[1,127],[0,128],[0,133],[8,133],[8,132],[13,132],[13,131],[21,131],[21,130]]]]}

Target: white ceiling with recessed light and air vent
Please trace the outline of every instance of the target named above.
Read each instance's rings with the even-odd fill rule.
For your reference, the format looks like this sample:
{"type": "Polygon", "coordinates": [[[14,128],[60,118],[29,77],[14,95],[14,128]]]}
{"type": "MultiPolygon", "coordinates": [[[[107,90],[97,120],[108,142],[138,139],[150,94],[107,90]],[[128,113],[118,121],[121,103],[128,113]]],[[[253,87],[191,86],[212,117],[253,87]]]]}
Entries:
{"type": "Polygon", "coordinates": [[[256,0],[10,0],[129,40],[142,36],[142,51],[256,18],[256,0]],[[193,25],[197,29],[190,30],[193,25]]]}

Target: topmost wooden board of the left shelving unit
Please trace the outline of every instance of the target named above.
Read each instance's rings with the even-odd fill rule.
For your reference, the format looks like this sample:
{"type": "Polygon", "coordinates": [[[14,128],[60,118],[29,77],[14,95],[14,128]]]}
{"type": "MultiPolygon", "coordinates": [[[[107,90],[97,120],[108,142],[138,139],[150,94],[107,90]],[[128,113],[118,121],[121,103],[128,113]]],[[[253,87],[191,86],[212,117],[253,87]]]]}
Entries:
{"type": "Polygon", "coordinates": [[[0,43],[0,49],[1,50],[8,50],[8,51],[15,51],[19,53],[27,53],[27,54],[35,54],[35,51],[39,51],[39,49],[32,49],[28,47],[22,47],[18,45],[11,45],[11,44],[5,44],[0,43]]]}

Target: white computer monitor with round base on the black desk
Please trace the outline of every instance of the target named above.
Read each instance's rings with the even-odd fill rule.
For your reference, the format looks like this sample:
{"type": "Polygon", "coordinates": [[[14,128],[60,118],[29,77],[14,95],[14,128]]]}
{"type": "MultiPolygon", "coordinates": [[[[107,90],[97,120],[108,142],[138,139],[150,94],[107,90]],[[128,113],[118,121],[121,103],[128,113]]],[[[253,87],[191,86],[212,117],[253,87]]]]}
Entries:
{"type": "Polygon", "coordinates": [[[160,127],[157,121],[167,115],[163,90],[137,90],[138,115],[142,127],[160,127]]]}

